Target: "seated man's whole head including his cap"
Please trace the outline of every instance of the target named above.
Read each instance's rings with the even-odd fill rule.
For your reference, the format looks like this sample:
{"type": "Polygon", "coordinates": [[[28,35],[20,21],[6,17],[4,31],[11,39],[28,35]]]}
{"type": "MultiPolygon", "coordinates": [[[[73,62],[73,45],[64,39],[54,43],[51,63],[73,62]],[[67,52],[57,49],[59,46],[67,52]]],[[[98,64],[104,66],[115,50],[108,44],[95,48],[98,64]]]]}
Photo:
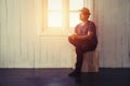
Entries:
{"type": "Polygon", "coordinates": [[[80,10],[80,20],[84,22],[88,20],[90,16],[90,11],[87,8],[82,8],[80,10]]]}

